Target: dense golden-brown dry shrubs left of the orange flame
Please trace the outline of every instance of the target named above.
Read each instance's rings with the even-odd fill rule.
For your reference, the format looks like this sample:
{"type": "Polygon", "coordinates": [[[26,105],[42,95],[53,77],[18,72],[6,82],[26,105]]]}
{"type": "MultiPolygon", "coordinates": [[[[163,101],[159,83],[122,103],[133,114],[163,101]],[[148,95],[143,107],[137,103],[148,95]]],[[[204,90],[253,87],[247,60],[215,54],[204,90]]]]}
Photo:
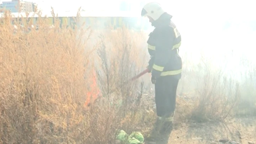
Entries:
{"type": "MultiPolygon", "coordinates": [[[[78,31],[49,28],[26,32],[11,18],[1,23],[1,142],[74,143],[86,124],[84,102],[92,69],[90,50],[78,31]]],[[[57,27],[58,22],[55,23],[57,27]]],[[[86,31],[87,33],[89,31],[86,31]]],[[[86,33],[80,31],[80,33],[86,33]]]]}

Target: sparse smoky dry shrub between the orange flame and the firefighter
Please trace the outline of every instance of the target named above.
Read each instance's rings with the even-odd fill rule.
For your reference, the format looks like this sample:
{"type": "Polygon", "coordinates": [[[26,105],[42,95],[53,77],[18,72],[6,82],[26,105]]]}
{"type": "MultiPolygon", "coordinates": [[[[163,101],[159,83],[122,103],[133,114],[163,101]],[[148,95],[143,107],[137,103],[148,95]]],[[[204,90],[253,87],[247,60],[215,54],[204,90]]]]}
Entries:
{"type": "Polygon", "coordinates": [[[116,110],[118,114],[114,119],[118,119],[120,128],[128,133],[131,130],[148,132],[155,118],[154,111],[145,108],[153,106],[153,101],[145,96],[148,90],[145,90],[144,82],[140,79],[128,81],[147,66],[145,44],[143,33],[122,27],[100,34],[97,46],[95,63],[102,97],[95,105],[110,103],[112,112],[116,110]]]}

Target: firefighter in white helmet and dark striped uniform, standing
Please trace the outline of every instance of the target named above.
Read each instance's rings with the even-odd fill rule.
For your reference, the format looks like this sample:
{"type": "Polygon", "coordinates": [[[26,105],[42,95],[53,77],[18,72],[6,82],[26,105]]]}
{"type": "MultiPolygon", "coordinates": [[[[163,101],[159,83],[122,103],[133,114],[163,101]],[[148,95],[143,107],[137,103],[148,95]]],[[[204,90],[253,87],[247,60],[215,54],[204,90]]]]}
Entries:
{"type": "Polygon", "coordinates": [[[157,2],[146,4],[141,15],[148,17],[155,27],[147,41],[151,56],[148,69],[155,85],[156,130],[164,130],[174,119],[176,91],[182,72],[182,60],[178,54],[181,35],[171,21],[172,16],[157,2]]]}

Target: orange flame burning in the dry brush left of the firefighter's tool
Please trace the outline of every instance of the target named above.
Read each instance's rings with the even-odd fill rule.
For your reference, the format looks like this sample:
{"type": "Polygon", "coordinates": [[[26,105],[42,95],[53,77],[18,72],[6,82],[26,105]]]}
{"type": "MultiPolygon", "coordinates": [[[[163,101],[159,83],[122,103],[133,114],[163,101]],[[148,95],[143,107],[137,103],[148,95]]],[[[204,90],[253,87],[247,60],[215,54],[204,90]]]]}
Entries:
{"type": "Polygon", "coordinates": [[[85,106],[89,106],[91,103],[93,103],[98,95],[100,94],[100,89],[97,86],[96,82],[96,73],[93,71],[93,76],[92,76],[92,84],[90,85],[90,91],[87,92],[87,97],[85,101],[85,106]]]}

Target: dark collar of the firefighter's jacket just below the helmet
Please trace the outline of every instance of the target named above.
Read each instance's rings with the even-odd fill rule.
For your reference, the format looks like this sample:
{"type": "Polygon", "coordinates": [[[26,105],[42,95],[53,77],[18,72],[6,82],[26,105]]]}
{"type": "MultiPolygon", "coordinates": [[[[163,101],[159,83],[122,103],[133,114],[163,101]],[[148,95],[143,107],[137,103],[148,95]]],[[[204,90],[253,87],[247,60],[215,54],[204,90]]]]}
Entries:
{"type": "Polygon", "coordinates": [[[155,28],[160,28],[164,26],[169,26],[171,22],[172,15],[165,12],[156,21],[152,22],[151,25],[155,28]]]}

